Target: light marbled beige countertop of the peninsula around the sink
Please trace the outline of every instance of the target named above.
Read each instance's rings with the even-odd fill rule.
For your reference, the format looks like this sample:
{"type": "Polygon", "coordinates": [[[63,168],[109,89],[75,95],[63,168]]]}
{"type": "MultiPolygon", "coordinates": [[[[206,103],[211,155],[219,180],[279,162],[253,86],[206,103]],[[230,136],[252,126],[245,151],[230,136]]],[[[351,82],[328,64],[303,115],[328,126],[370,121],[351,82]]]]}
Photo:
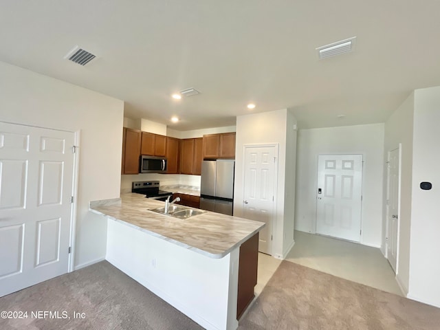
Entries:
{"type": "Polygon", "coordinates": [[[177,219],[149,210],[161,206],[163,201],[135,193],[90,202],[91,212],[214,259],[223,258],[265,226],[263,222],[214,212],[177,219]]]}

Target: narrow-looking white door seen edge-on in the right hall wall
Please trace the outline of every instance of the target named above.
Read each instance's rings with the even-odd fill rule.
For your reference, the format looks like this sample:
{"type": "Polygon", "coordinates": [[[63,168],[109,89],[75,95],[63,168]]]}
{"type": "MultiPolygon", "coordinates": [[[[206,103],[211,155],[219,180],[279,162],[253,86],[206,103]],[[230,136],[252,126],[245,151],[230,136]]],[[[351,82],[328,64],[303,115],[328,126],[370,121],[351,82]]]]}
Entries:
{"type": "Polygon", "coordinates": [[[387,253],[388,262],[397,271],[399,247],[399,148],[388,153],[387,253]]]}

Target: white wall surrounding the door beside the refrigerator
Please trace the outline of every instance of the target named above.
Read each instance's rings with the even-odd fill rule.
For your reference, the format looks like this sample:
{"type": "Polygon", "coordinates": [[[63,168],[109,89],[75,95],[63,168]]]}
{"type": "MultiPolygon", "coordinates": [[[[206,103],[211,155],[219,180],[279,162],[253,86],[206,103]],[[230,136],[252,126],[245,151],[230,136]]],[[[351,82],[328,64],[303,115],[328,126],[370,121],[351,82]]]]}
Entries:
{"type": "MultiPolygon", "coordinates": [[[[278,258],[284,256],[287,112],[287,109],[282,109],[240,115],[236,118],[234,215],[237,217],[243,217],[243,151],[245,144],[278,144],[278,188],[276,191],[276,216],[273,224],[274,238],[272,245],[272,255],[278,258]]],[[[292,120],[289,120],[289,122],[292,122],[292,120]]],[[[290,235],[287,234],[289,241],[292,241],[290,235]]]]}

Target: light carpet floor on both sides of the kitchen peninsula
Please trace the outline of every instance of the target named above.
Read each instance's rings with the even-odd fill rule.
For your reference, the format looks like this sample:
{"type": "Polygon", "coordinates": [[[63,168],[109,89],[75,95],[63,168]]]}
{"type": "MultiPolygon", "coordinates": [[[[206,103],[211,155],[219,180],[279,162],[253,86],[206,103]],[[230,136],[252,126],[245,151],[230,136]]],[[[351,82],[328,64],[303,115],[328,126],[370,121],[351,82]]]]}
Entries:
{"type": "MultiPolygon", "coordinates": [[[[107,261],[0,298],[0,311],[64,318],[2,319],[1,330],[202,329],[107,261]],[[73,312],[85,318],[73,318],[73,312]]],[[[440,309],[283,261],[240,330],[434,330],[440,309]]]]}

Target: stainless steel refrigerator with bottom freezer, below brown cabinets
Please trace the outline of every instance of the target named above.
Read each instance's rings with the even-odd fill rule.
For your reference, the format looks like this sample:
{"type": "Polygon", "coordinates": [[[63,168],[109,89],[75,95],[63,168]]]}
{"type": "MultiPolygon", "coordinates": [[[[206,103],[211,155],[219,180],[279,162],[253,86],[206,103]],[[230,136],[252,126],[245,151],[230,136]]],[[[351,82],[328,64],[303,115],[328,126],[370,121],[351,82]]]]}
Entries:
{"type": "Polygon", "coordinates": [[[230,159],[204,160],[201,164],[200,208],[232,215],[234,166],[230,159]]]}

